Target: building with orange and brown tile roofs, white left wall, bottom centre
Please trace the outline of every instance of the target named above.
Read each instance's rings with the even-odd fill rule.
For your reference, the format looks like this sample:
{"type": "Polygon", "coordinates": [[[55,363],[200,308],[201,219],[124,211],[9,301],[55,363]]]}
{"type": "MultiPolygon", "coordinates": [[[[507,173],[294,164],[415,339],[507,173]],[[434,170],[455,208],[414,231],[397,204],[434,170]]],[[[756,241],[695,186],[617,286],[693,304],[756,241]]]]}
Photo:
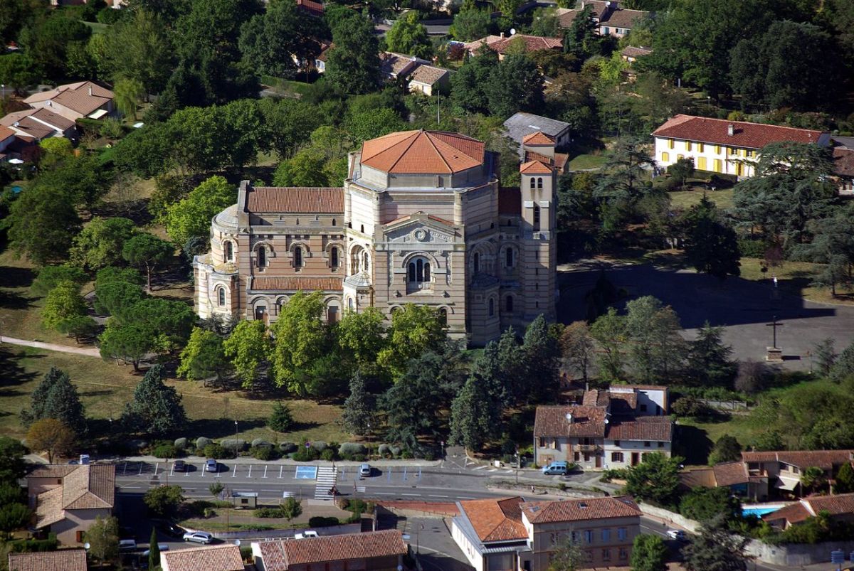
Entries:
{"type": "Polygon", "coordinates": [[[560,544],[582,550],[582,568],[629,565],[640,510],[628,497],[457,502],[453,540],[476,571],[546,571],[560,544]]]}

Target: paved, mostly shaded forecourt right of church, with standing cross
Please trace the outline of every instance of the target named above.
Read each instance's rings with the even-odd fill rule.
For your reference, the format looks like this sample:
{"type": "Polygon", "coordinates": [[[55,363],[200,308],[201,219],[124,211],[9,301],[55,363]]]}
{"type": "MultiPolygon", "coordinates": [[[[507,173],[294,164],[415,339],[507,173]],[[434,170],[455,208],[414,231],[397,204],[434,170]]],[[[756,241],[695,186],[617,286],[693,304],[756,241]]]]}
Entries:
{"type": "Polygon", "coordinates": [[[763,360],[765,347],[772,345],[773,318],[777,328],[777,347],[782,347],[784,367],[810,370],[810,352],[828,337],[840,353],[854,340],[854,307],[830,306],[800,297],[775,296],[769,283],[738,277],[721,282],[716,277],[694,271],[671,270],[645,265],[610,265],[596,261],[561,266],[559,272],[559,319],[570,323],[585,316],[584,295],[594,287],[604,271],[611,283],[623,288],[628,297],[618,302],[623,309],[627,300],[652,295],[670,305],[679,315],[687,339],[706,321],[724,328],[723,341],[733,348],[739,360],[763,360]]]}

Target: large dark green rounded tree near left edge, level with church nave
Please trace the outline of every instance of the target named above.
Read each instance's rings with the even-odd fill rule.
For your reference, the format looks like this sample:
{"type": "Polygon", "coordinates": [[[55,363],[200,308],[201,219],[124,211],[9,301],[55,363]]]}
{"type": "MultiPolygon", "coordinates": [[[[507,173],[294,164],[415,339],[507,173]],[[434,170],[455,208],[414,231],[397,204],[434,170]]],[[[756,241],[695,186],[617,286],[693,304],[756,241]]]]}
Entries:
{"type": "Polygon", "coordinates": [[[38,181],[12,202],[5,224],[15,253],[46,265],[67,259],[80,218],[66,189],[38,181]]]}

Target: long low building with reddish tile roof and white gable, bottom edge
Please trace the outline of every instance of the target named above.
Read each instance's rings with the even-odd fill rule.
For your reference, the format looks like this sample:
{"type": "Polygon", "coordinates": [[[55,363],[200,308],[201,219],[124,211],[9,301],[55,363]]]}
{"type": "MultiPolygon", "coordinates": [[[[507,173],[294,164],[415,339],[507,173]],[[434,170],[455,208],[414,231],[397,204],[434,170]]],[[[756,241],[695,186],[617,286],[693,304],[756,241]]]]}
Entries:
{"type": "Polygon", "coordinates": [[[258,571],[395,571],[407,551],[396,529],[252,544],[258,571]]]}

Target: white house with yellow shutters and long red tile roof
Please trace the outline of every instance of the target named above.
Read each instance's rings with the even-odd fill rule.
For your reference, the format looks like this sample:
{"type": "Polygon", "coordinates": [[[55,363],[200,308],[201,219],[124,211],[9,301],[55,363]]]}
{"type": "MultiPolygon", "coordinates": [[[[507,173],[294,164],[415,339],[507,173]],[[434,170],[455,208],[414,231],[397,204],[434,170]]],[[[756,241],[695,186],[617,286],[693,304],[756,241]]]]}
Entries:
{"type": "Polygon", "coordinates": [[[739,178],[753,176],[753,163],[769,143],[830,143],[830,134],[822,131],[682,114],[668,119],[652,132],[652,137],[655,137],[653,158],[660,167],[691,159],[699,171],[739,178]]]}

